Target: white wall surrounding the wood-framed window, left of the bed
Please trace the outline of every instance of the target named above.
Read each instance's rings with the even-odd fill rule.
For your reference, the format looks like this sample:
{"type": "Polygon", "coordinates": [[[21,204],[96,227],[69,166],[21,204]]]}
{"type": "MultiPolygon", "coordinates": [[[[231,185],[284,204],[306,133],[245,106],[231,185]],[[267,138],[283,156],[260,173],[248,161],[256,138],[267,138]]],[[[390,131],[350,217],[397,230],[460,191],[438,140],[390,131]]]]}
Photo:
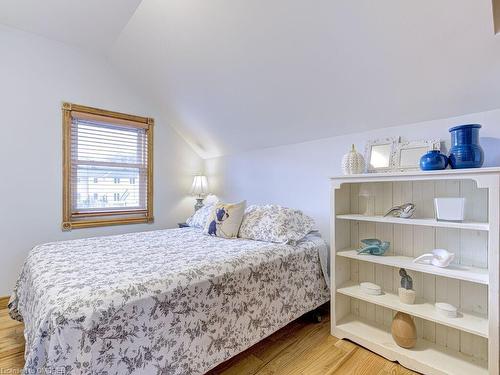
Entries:
{"type": "Polygon", "coordinates": [[[173,227],[201,159],[108,62],[0,26],[0,296],[10,293],[36,244],[173,227]],[[154,117],[155,223],[62,232],[61,102],[154,117]]]}

